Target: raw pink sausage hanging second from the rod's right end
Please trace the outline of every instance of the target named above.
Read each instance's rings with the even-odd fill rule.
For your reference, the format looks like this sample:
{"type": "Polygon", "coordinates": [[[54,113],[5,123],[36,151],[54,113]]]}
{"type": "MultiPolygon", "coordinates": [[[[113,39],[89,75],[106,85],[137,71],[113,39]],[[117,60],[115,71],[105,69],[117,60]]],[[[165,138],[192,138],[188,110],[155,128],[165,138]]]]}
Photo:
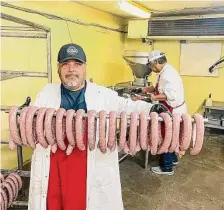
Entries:
{"type": "Polygon", "coordinates": [[[181,132],[180,132],[180,150],[186,151],[191,143],[192,123],[188,114],[182,114],[181,132]]]}

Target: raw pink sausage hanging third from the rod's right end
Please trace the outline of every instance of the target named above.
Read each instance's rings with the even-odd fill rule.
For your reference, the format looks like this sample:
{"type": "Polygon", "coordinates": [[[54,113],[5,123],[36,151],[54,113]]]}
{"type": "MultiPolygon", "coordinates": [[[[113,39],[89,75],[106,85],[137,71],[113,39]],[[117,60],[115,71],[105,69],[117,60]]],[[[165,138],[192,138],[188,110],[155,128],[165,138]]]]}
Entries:
{"type": "Polygon", "coordinates": [[[177,143],[179,142],[179,136],[180,136],[180,119],[181,116],[180,114],[173,114],[173,134],[172,134],[172,141],[171,141],[171,145],[169,148],[169,152],[174,152],[176,147],[177,147],[177,143]]]}

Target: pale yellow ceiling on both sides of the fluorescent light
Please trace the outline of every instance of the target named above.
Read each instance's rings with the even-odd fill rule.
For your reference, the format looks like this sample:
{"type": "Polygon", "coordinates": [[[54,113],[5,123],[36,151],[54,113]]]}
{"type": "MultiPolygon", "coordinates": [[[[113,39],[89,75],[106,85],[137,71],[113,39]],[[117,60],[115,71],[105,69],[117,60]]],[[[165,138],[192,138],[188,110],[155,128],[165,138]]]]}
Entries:
{"type": "MultiPolygon", "coordinates": [[[[123,18],[134,17],[123,11],[118,7],[117,1],[75,1],[88,7],[98,9],[116,16],[123,18]]],[[[163,12],[176,12],[176,10],[183,10],[186,8],[200,8],[200,7],[215,7],[215,6],[224,6],[224,1],[183,1],[183,0],[154,0],[154,1],[135,1],[138,4],[146,7],[151,10],[153,13],[163,13],[163,12]]]]}

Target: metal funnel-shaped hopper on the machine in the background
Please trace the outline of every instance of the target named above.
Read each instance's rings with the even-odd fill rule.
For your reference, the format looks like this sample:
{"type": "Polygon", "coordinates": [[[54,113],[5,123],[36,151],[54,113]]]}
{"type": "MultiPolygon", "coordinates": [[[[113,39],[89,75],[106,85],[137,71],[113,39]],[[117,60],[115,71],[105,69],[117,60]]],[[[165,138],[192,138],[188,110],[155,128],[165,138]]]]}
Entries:
{"type": "Polygon", "coordinates": [[[147,67],[148,52],[125,51],[123,58],[131,67],[134,77],[139,79],[147,78],[152,70],[147,67]]]}

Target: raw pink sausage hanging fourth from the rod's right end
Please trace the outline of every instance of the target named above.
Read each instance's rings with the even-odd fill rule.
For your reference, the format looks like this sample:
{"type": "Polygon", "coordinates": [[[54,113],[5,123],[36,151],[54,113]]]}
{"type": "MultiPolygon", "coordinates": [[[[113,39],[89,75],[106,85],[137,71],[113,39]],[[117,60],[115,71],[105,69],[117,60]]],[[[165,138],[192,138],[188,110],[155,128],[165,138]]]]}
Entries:
{"type": "Polygon", "coordinates": [[[164,124],[165,124],[165,136],[162,142],[162,145],[159,147],[157,154],[163,154],[168,151],[168,148],[171,144],[172,140],[172,121],[170,119],[169,114],[167,113],[160,113],[160,117],[162,117],[164,124]]]}

